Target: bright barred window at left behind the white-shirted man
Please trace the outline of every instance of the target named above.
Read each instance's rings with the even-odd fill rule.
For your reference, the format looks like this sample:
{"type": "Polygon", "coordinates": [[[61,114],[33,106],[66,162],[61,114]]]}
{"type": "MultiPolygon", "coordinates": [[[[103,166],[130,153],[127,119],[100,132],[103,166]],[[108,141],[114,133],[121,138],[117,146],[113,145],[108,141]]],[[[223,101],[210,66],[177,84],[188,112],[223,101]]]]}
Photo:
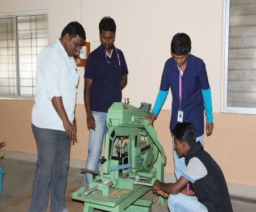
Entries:
{"type": "Polygon", "coordinates": [[[36,60],[48,44],[45,14],[0,17],[0,96],[34,96],[36,60]]]}

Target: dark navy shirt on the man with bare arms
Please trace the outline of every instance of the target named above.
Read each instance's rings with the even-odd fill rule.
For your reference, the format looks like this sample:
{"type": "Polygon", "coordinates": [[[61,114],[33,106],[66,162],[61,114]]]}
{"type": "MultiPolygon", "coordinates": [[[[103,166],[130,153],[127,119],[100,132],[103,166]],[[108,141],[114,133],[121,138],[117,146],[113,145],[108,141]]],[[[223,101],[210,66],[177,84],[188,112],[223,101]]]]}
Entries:
{"type": "Polygon", "coordinates": [[[121,102],[122,93],[120,77],[128,74],[124,54],[115,47],[111,58],[107,56],[104,47],[100,45],[88,57],[85,66],[85,78],[93,80],[91,85],[91,110],[107,113],[114,102],[121,102]],[[108,63],[107,62],[110,62],[108,63]]]}

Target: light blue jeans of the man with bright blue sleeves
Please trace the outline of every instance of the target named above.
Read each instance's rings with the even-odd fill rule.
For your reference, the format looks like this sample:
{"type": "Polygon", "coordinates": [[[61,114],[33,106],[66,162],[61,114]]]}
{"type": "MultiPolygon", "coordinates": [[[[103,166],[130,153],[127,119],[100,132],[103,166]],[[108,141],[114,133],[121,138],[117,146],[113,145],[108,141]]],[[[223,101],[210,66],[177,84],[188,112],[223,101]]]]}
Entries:
{"type": "MultiPolygon", "coordinates": [[[[204,145],[204,135],[196,138],[196,142],[200,141],[204,145]]],[[[186,168],[185,158],[179,158],[177,152],[174,150],[174,137],[173,137],[173,159],[174,159],[174,173],[176,179],[181,178],[183,170],[186,168]]]]}

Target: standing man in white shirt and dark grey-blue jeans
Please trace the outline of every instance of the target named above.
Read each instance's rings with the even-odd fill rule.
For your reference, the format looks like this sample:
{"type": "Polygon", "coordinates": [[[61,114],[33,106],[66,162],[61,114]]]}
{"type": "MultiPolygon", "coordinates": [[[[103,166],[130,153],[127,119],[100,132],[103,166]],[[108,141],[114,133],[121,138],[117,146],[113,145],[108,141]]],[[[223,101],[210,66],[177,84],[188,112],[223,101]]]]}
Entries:
{"type": "Polygon", "coordinates": [[[37,59],[36,96],[32,130],[37,146],[30,212],[45,212],[51,192],[51,211],[67,212],[65,189],[70,140],[76,139],[74,109],[79,75],[74,56],[85,42],[82,25],[70,22],[61,38],[46,46],[37,59]]]}

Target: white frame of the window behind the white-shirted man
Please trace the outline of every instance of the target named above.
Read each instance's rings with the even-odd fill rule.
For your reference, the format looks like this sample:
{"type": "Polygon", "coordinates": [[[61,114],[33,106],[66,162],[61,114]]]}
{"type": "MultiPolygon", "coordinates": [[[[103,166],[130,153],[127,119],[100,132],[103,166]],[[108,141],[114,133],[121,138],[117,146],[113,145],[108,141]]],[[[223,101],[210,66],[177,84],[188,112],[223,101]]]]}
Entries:
{"type": "Polygon", "coordinates": [[[36,10],[36,11],[22,11],[22,12],[8,12],[0,14],[0,18],[14,18],[14,36],[15,36],[15,59],[16,59],[16,95],[0,95],[0,100],[20,100],[20,101],[34,101],[35,96],[20,96],[20,73],[19,73],[19,46],[17,37],[17,23],[16,17],[18,16],[33,16],[33,15],[47,15],[47,28],[48,28],[48,43],[49,43],[49,13],[48,10],[36,10]]]}

